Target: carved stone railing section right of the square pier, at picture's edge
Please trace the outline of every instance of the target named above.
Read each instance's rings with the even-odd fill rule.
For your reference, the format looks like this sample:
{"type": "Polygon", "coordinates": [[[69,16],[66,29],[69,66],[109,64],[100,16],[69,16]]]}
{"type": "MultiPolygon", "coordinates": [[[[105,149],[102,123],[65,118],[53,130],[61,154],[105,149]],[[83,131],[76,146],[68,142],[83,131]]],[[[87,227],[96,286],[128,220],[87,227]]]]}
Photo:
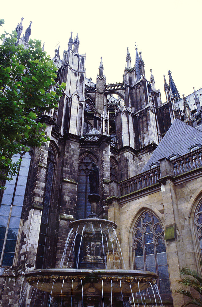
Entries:
{"type": "Polygon", "coordinates": [[[202,166],[202,148],[172,160],[170,165],[173,176],[189,172],[192,169],[202,166]]]}

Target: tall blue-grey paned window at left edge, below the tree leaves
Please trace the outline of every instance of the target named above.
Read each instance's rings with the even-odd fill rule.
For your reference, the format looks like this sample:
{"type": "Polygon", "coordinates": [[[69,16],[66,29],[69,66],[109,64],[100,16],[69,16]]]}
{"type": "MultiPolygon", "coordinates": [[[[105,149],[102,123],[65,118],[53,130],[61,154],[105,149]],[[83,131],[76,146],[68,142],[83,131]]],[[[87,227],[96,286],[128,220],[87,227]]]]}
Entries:
{"type": "Polygon", "coordinates": [[[17,234],[20,224],[22,205],[31,161],[28,152],[13,156],[13,161],[22,159],[17,174],[6,181],[0,207],[0,265],[12,266],[17,234]]]}

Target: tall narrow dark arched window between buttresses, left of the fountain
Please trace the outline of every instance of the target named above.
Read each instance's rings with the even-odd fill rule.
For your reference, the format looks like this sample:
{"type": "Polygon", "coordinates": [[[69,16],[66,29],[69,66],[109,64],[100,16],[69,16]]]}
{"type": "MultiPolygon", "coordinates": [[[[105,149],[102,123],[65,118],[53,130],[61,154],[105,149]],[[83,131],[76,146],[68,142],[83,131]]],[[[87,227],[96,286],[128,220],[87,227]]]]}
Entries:
{"type": "Polygon", "coordinates": [[[36,257],[36,268],[42,269],[44,262],[44,251],[46,245],[46,234],[47,234],[47,226],[48,226],[48,215],[49,208],[51,203],[51,192],[53,185],[53,176],[55,169],[55,153],[52,146],[49,146],[48,153],[48,169],[47,169],[47,178],[46,178],[46,186],[44,192],[44,203],[43,203],[43,211],[41,216],[41,226],[39,233],[39,243],[38,243],[38,251],[36,257]]]}

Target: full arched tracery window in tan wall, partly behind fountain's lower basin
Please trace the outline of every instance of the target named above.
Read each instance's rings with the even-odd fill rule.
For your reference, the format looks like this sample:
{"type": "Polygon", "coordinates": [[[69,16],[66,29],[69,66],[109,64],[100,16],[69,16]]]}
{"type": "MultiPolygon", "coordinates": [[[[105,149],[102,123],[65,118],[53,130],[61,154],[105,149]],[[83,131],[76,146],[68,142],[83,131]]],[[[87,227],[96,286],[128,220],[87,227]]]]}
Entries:
{"type": "Polygon", "coordinates": [[[170,296],[166,246],[161,222],[151,212],[144,211],[135,224],[132,239],[135,269],[158,274],[157,283],[161,296],[170,296]]]}

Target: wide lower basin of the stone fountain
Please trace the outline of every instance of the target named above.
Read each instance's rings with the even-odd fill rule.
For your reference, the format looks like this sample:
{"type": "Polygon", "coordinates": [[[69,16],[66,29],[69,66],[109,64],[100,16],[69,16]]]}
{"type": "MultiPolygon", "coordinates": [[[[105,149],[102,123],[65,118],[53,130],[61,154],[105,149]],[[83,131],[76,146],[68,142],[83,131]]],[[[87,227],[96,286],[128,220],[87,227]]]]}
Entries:
{"type": "Polygon", "coordinates": [[[141,270],[41,269],[25,274],[30,285],[52,296],[131,295],[156,283],[157,274],[141,270]],[[81,282],[82,281],[82,282],[81,282]],[[151,283],[151,284],[150,284],[151,283]],[[131,286],[131,287],[130,287],[131,286]]]}

